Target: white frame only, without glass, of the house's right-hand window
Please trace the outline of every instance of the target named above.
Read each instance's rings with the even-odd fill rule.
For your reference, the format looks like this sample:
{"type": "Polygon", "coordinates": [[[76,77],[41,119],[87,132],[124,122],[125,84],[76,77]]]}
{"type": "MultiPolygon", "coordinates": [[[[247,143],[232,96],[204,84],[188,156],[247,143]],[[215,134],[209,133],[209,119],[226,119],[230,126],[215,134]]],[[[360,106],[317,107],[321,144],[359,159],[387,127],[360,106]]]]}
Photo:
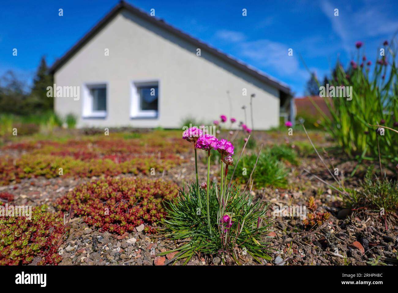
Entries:
{"type": "Polygon", "coordinates": [[[130,118],[149,118],[158,119],[160,109],[160,80],[133,80],[130,83],[130,118]],[[158,87],[158,111],[155,110],[141,110],[140,95],[138,88],[141,86],[157,86],[158,87]]]}

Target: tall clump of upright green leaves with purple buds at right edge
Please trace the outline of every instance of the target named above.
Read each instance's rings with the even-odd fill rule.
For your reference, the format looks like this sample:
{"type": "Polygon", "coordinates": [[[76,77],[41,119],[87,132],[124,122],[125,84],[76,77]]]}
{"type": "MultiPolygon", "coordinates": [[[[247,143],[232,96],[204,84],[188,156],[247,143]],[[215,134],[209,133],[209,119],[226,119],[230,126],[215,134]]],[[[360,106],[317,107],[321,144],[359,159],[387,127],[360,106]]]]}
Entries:
{"type": "MultiPolygon", "coordinates": [[[[398,121],[397,48],[393,46],[395,42],[391,44],[383,46],[385,56],[373,61],[371,66],[366,65],[366,61],[361,61],[363,56],[358,50],[356,64],[344,69],[338,62],[332,78],[328,80],[330,86],[353,88],[352,100],[345,97],[324,99],[332,114],[332,118],[324,115],[324,125],[334,141],[349,156],[378,158],[377,127],[370,127],[369,124],[381,123],[397,128],[394,126],[394,122],[398,121]],[[369,73],[370,70],[373,73],[369,73]]],[[[321,109],[318,110],[322,112],[321,109]]],[[[379,136],[379,141],[382,158],[395,165],[398,162],[398,137],[386,130],[384,136],[379,136]]]]}

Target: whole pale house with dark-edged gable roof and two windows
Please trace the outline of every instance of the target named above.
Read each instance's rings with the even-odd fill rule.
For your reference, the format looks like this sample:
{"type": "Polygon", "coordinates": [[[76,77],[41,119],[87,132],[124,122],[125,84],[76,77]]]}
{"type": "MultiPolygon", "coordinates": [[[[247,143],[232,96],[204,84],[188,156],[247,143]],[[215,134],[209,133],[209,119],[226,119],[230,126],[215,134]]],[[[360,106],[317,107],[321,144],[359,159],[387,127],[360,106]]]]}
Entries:
{"type": "Polygon", "coordinates": [[[179,128],[187,117],[222,114],[244,121],[243,105],[251,127],[251,94],[254,129],[293,118],[288,86],[123,1],[50,72],[61,89],[55,111],[74,114],[77,127],[179,128]]]}

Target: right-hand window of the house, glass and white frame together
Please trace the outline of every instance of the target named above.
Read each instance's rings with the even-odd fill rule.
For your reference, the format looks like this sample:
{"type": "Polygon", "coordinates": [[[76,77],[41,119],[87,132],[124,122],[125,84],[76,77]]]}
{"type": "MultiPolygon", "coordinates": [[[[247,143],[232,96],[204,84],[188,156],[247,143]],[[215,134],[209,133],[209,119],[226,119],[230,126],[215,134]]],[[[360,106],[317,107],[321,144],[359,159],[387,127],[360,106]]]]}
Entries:
{"type": "Polygon", "coordinates": [[[157,118],[159,86],[157,81],[133,82],[131,97],[132,118],[157,118]]]}

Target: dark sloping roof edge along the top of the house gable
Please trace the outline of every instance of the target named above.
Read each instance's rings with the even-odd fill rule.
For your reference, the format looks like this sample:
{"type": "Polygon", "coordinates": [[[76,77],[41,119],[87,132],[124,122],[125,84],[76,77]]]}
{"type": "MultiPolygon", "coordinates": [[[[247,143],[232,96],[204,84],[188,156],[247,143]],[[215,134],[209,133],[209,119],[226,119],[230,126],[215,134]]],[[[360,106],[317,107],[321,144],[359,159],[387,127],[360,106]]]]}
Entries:
{"type": "Polygon", "coordinates": [[[215,55],[219,59],[250,74],[251,76],[257,78],[258,80],[277,88],[281,92],[284,92],[286,94],[291,94],[290,88],[288,86],[285,86],[285,85],[277,82],[276,80],[273,80],[273,79],[265,76],[264,74],[261,74],[257,70],[254,70],[254,69],[248,67],[248,65],[243,64],[232,57],[229,57],[228,55],[220,52],[219,50],[215,49],[214,47],[211,47],[211,46],[199,41],[198,39],[195,39],[194,37],[191,37],[190,35],[183,33],[182,31],[180,31],[179,29],[176,29],[172,25],[165,23],[163,20],[159,20],[153,16],[149,16],[145,12],[139,10],[138,8],[135,8],[134,6],[128,4],[124,1],[120,1],[102,20],[100,20],[88,33],[86,33],[86,35],[84,35],[84,37],[82,37],[82,39],[80,39],[71,49],[69,49],[69,51],[67,51],[64,56],[62,56],[60,59],[57,59],[57,61],[55,61],[53,66],[51,66],[51,68],[49,69],[49,72],[51,74],[54,74],[55,71],[57,71],[63,64],[65,64],[66,61],[68,61],[70,59],[70,57],[72,57],[74,55],[74,53],[76,53],[92,37],[94,37],[94,35],[96,35],[96,33],[98,33],[98,31],[100,31],[122,9],[126,9],[127,11],[143,18],[144,20],[162,27],[166,31],[173,33],[174,35],[177,35],[181,39],[183,39],[193,45],[197,45],[204,51],[209,51],[211,54],[215,55]]]}

